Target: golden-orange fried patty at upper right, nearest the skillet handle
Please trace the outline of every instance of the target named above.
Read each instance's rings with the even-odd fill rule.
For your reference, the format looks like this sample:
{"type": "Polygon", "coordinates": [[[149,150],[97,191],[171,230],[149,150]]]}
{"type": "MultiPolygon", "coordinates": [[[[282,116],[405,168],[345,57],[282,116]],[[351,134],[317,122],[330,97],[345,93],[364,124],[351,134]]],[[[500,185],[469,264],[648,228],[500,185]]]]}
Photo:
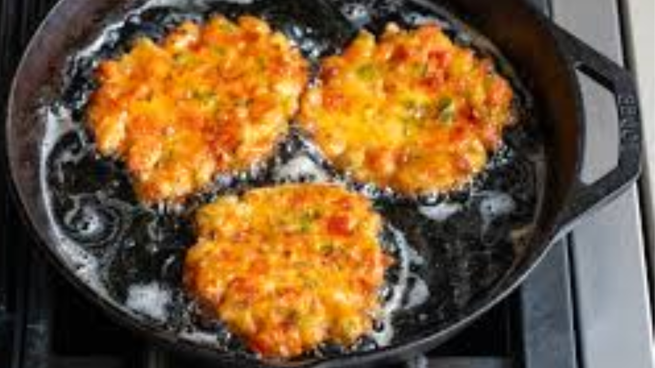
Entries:
{"type": "Polygon", "coordinates": [[[512,88],[492,60],[438,26],[362,31],[326,58],[301,124],[335,166],[405,194],[454,189],[480,172],[512,124],[512,88]]]}

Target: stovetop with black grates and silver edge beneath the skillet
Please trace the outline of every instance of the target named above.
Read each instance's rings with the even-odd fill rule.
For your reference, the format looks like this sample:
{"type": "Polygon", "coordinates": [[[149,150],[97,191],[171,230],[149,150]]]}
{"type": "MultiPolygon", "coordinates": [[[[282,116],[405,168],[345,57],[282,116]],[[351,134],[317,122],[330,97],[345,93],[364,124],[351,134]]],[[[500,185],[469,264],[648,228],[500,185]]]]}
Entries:
{"type": "MultiPolygon", "coordinates": [[[[614,0],[593,7],[586,0],[530,2],[624,61],[621,9],[614,0]]],[[[0,3],[2,112],[21,50],[53,3],[0,3]]],[[[589,81],[584,90],[590,120],[599,129],[615,124],[607,93],[589,81]]],[[[603,144],[591,144],[591,153],[610,151],[603,144]]],[[[81,297],[35,251],[7,186],[0,180],[0,367],[202,366],[116,325],[81,297]]],[[[557,243],[506,301],[426,356],[396,367],[655,367],[644,253],[635,187],[557,243]]]]}

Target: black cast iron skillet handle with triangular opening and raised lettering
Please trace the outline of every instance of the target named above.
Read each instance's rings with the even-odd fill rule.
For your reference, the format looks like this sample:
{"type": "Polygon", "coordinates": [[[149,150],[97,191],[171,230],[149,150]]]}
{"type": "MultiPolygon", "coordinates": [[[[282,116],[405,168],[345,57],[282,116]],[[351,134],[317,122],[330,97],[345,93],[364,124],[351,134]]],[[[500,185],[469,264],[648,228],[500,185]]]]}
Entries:
{"type": "MultiPolygon", "coordinates": [[[[610,90],[618,113],[618,165],[593,183],[584,183],[580,178],[580,168],[577,169],[571,192],[557,218],[556,229],[560,229],[562,234],[570,230],[581,215],[616,198],[637,179],[641,172],[641,118],[632,75],[571,33],[555,25],[552,29],[555,39],[569,57],[572,69],[582,71],[610,90]]],[[[593,128],[589,124],[584,126],[593,128]]],[[[584,147],[585,142],[582,145],[584,147]]]]}

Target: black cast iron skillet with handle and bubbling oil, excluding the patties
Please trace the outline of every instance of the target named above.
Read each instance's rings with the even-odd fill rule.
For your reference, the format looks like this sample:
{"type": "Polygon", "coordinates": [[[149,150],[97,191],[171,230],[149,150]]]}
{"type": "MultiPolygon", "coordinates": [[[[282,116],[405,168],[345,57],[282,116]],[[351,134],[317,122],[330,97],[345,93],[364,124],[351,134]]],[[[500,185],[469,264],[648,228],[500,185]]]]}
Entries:
{"type": "Polygon", "coordinates": [[[640,120],[630,75],[522,1],[189,0],[177,2],[186,4],[183,10],[129,13],[143,3],[62,0],[52,10],[16,74],[5,143],[14,189],[40,248],[116,320],[172,348],[229,366],[264,364],[220,323],[198,320],[184,307],[189,301],[179,290],[179,260],[192,241],[184,219],[212,196],[275,183],[270,170],[293,155],[306,154],[334,179],[373,198],[387,219],[388,251],[406,260],[388,281],[402,278],[405,288],[387,290],[386,298],[397,295],[400,307],[377,333],[392,339],[364,339],[354,351],[326,346],[320,356],[267,362],[275,365],[344,367],[402,359],[436,346],[508,295],[557,236],[639,174],[640,120]],[[141,208],[121,166],[96,158],[82,128],[84,101],[94,85],[90,70],[94,60],[119,54],[138,35],[158,37],[183,18],[200,17],[208,11],[198,10],[204,3],[229,16],[250,12],[267,18],[313,61],[338,52],[360,26],[379,31],[388,20],[411,25],[435,17],[458,42],[502,65],[519,92],[521,124],[506,134],[506,147],[487,173],[449,196],[413,201],[371,191],[334,172],[295,132],[278,147],[266,166],[270,170],[224,178],[212,193],[194,198],[186,212],[141,208]],[[132,15],[98,50],[79,52],[126,14],[132,15]],[[584,119],[576,71],[616,97],[620,139],[608,149],[618,150],[618,166],[593,183],[581,179],[586,130],[595,126],[584,119]],[[413,250],[402,246],[403,239],[413,250]],[[134,284],[150,285],[141,291],[164,296],[154,312],[152,304],[125,306],[134,284]]]}

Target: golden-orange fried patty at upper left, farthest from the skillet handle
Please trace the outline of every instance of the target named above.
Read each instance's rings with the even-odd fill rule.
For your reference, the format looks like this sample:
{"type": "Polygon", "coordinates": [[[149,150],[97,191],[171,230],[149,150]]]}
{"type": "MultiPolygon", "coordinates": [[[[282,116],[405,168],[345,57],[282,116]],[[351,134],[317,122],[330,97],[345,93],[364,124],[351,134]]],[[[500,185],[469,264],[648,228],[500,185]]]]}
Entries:
{"type": "Polygon", "coordinates": [[[174,202],[246,170],[288,129],[307,63],[263,21],[186,22],[96,71],[88,109],[98,150],[126,162],[145,202],[174,202]]]}

